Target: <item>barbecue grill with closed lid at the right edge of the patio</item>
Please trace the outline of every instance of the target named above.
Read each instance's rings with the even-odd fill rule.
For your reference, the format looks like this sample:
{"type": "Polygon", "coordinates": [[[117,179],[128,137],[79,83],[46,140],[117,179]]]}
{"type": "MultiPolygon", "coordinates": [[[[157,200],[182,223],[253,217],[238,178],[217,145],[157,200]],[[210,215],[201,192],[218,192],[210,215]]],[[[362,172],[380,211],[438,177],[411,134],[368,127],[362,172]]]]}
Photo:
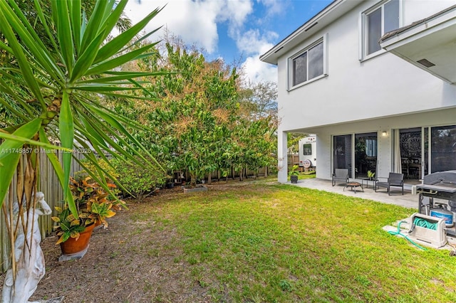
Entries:
{"type": "MultiPolygon", "coordinates": [[[[450,211],[456,213],[456,170],[439,171],[424,176],[423,184],[418,184],[416,191],[419,194],[418,211],[420,213],[429,215],[430,209],[435,209],[435,204],[443,205],[445,208],[449,205],[450,211]]],[[[456,235],[456,228],[447,228],[447,233],[456,235]]]]}

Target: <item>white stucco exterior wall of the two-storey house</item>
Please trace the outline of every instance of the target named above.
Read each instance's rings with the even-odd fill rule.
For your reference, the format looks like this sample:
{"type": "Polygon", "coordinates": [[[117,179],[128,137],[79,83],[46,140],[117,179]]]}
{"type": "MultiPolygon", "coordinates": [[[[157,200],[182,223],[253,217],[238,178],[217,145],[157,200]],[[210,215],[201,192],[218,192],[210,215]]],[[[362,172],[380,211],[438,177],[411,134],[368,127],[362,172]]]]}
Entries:
{"type": "MultiPolygon", "coordinates": [[[[361,1],[278,59],[279,134],[317,134],[318,178],[331,179],[334,135],[377,132],[377,176],[388,176],[393,162],[392,129],[456,124],[456,85],[390,53],[360,60],[361,13],[378,3],[361,1]],[[289,58],[322,37],[326,39],[327,75],[289,89],[289,58]],[[383,137],[383,131],[388,136],[383,137]]],[[[403,0],[400,26],[455,3],[403,0]]],[[[284,158],[281,137],[279,158],[284,158]]],[[[279,172],[279,181],[286,181],[286,174],[279,172]]]]}

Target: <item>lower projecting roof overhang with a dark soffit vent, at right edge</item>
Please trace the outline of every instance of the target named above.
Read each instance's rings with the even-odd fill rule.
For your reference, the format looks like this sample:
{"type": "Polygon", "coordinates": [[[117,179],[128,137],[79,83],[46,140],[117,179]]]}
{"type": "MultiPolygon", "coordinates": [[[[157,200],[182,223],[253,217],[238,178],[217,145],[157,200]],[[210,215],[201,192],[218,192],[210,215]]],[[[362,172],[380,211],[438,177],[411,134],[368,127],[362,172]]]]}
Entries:
{"type": "Polygon", "coordinates": [[[456,5],[386,33],[380,46],[447,83],[456,83],[456,5]]]}

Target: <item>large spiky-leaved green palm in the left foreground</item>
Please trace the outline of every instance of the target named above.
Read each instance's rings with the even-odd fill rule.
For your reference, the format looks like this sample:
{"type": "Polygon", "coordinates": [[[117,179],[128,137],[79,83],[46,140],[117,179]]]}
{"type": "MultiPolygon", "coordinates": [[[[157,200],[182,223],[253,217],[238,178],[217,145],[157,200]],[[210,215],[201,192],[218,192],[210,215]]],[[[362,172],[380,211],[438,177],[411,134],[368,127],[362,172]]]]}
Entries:
{"type": "MultiPolygon", "coordinates": [[[[144,89],[137,78],[157,75],[120,69],[131,60],[150,55],[147,52],[155,43],[142,43],[138,47],[131,41],[135,38],[138,43],[147,38],[148,35],[138,39],[138,34],[160,11],[152,11],[139,23],[110,38],[127,1],[96,1],[87,18],[81,0],[51,0],[51,16],[44,13],[43,2],[35,0],[35,23],[28,21],[15,1],[0,1],[0,34],[3,37],[0,55],[11,58],[9,65],[0,66],[0,106],[14,118],[0,124],[3,127],[0,128],[0,139],[3,139],[0,145],[0,206],[14,172],[22,171],[18,167],[26,167],[17,181],[17,200],[28,209],[33,208],[39,169],[36,160],[46,155],[63,187],[68,208],[73,216],[78,216],[68,186],[75,141],[82,147],[93,148],[100,156],[107,151],[138,161],[133,156],[136,154],[147,163],[141,156],[149,155],[147,150],[127,131],[142,126],[116,114],[99,101],[103,96],[128,98],[129,92],[144,89]],[[35,30],[36,24],[39,24],[39,33],[35,30]],[[42,37],[43,33],[46,37],[42,37]],[[48,137],[61,145],[51,143],[48,137]],[[133,142],[134,147],[127,141],[133,142]],[[30,151],[26,163],[22,163],[18,152],[24,148],[30,151]],[[41,153],[40,149],[46,152],[41,153]],[[49,152],[56,149],[63,152],[63,164],[55,153],[49,152]]],[[[98,166],[96,157],[93,154],[85,156],[97,170],[88,171],[88,174],[109,190],[103,177],[106,172],[98,166]]],[[[7,211],[4,206],[3,210],[7,211]]],[[[11,222],[8,228],[11,243],[14,243],[16,233],[11,222]]],[[[14,272],[14,257],[12,259],[14,272]]]]}

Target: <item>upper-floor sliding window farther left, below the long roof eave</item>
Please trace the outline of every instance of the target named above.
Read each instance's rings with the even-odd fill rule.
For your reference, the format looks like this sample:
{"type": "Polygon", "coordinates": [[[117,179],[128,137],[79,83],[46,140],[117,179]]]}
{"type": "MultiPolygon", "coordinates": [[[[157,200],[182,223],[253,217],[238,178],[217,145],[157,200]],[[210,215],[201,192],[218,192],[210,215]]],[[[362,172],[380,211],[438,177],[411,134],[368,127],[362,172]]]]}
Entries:
{"type": "Polygon", "coordinates": [[[323,38],[290,59],[290,86],[294,87],[324,75],[325,51],[323,38]]]}

